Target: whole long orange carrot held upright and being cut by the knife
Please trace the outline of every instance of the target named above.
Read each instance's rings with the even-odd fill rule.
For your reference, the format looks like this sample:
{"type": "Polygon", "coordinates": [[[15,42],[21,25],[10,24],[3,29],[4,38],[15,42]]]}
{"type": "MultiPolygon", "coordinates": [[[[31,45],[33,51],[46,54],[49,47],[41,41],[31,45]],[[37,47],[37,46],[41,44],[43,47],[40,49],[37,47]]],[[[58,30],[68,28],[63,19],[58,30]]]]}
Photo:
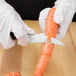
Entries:
{"type": "Polygon", "coordinates": [[[43,73],[45,72],[49,59],[53,52],[54,44],[51,44],[50,40],[51,37],[56,37],[58,29],[58,24],[56,24],[53,19],[55,10],[55,7],[51,8],[46,19],[45,35],[47,36],[47,42],[44,44],[44,47],[42,49],[38,65],[34,72],[34,76],[43,76],[43,73]]]}

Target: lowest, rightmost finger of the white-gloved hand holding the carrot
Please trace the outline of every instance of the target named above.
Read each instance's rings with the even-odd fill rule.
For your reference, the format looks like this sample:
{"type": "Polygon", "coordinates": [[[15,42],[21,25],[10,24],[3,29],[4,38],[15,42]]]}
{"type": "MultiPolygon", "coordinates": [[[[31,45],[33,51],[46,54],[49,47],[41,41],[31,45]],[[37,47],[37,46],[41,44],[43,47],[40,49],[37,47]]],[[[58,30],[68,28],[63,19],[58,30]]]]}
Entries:
{"type": "Polygon", "coordinates": [[[63,23],[60,24],[60,27],[58,29],[58,33],[57,33],[57,36],[56,36],[56,38],[58,40],[61,40],[65,36],[65,34],[68,30],[68,27],[69,27],[69,25],[70,25],[70,23],[73,19],[74,14],[75,14],[75,12],[71,9],[66,14],[66,17],[65,17],[63,23]]]}

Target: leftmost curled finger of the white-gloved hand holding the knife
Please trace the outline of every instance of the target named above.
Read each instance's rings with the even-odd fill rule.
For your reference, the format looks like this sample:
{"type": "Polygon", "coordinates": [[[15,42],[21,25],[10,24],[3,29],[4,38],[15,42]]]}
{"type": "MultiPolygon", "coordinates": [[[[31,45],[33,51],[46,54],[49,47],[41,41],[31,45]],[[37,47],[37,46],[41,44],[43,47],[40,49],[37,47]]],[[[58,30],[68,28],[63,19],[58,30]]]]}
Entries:
{"type": "Polygon", "coordinates": [[[13,41],[10,37],[10,31],[11,31],[11,22],[12,19],[9,15],[4,16],[2,23],[3,23],[3,29],[0,31],[0,44],[4,49],[11,48],[15,45],[15,41],[13,41]]]}

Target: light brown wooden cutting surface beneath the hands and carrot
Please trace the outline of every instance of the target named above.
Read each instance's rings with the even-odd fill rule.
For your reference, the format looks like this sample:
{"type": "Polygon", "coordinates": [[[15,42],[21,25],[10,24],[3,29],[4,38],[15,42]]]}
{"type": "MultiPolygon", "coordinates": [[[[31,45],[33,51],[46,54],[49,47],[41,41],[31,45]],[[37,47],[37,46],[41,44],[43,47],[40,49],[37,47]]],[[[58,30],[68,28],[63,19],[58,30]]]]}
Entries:
{"type": "MultiPolygon", "coordinates": [[[[25,21],[40,33],[38,21],[25,21]]],[[[44,76],[76,76],[76,23],[62,40],[65,46],[56,45],[44,76]]],[[[0,49],[0,76],[16,71],[22,76],[33,76],[43,44],[29,44],[27,47],[16,45],[12,49],[0,49]]]]}

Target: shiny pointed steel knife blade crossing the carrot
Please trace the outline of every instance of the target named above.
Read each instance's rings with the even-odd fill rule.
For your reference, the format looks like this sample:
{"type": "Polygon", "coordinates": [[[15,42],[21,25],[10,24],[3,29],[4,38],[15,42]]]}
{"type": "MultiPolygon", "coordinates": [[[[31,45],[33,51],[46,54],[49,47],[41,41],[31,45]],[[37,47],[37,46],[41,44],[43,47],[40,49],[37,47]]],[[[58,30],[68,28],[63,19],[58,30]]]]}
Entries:
{"type": "MultiPolygon", "coordinates": [[[[29,39],[30,43],[45,43],[47,41],[47,37],[44,33],[29,35],[29,39]]],[[[54,38],[51,38],[51,43],[64,46],[61,41],[54,38]]]]}

